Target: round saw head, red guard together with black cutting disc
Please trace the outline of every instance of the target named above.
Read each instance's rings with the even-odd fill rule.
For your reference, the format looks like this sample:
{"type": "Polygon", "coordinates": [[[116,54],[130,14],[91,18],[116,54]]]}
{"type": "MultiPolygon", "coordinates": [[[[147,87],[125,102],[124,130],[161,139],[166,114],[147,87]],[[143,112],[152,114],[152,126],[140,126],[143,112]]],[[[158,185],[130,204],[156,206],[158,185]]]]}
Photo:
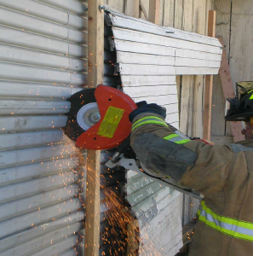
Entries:
{"type": "Polygon", "coordinates": [[[106,85],[85,89],[73,95],[66,135],[76,147],[102,150],[117,147],[129,137],[129,113],[137,108],[124,92],[106,85]]]}

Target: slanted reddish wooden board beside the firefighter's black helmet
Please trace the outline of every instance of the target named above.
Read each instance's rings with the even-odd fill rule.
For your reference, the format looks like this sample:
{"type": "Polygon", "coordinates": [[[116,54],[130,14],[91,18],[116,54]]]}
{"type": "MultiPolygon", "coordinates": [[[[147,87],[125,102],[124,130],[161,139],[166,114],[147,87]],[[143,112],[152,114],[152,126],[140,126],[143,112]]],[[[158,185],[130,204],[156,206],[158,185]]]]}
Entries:
{"type": "MultiPolygon", "coordinates": [[[[224,42],[222,38],[218,38],[221,45],[223,46],[222,58],[221,58],[221,68],[220,68],[220,76],[221,76],[221,84],[225,99],[234,97],[233,90],[233,82],[229,70],[229,65],[227,61],[226,49],[224,46],[224,42]]],[[[233,141],[237,143],[239,141],[243,141],[245,139],[244,135],[241,134],[242,124],[241,122],[229,122],[232,128],[233,141]]]]}

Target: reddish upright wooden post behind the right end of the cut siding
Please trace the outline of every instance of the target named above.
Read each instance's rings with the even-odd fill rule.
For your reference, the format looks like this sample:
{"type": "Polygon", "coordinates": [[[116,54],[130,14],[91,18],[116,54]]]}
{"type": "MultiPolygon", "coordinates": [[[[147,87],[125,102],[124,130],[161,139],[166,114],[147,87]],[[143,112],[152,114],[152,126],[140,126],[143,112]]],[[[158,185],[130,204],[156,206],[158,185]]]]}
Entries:
{"type": "MultiPolygon", "coordinates": [[[[216,11],[210,10],[208,17],[208,33],[209,37],[216,37],[216,11]]],[[[204,140],[210,141],[211,130],[211,114],[212,114],[212,96],[213,96],[214,76],[205,76],[205,90],[204,90],[204,140]]],[[[215,120],[214,120],[215,121],[215,120]]]]}

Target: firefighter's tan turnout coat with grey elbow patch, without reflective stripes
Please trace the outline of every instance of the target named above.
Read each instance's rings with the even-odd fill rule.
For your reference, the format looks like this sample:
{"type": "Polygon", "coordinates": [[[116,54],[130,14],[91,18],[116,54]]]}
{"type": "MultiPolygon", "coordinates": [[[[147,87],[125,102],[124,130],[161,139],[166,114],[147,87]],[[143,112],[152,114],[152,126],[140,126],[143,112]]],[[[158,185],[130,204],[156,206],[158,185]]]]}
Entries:
{"type": "MultiPolygon", "coordinates": [[[[140,114],[134,124],[148,116],[160,117],[140,114]]],[[[173,133],[164,125],[141,125],[132,131],[131,146],[148,168],[202,193],[205,205],[218,216],[252,223],[253,143],[221,146],[189,141],[178,145],[164,140],[173,133]]],[[[249,256],[253,255],[253,241],[224,235],[198,221],[190,255],[249,256]]]]}

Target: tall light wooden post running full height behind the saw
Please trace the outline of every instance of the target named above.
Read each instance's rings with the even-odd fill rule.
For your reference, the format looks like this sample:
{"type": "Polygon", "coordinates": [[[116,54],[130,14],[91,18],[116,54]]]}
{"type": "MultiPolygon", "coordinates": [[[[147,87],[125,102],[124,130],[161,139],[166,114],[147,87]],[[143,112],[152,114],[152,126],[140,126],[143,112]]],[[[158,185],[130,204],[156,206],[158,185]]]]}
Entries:
{"type": "MultiPolygon", "coordinates": [[[[104,0],[88,1],[88,86],[103,83],[104,74],[104,0]]],[[[100,246],[100,168],[101,152],[87,152],[87,189],[84,254],[99,256],[100,246]]]]}

